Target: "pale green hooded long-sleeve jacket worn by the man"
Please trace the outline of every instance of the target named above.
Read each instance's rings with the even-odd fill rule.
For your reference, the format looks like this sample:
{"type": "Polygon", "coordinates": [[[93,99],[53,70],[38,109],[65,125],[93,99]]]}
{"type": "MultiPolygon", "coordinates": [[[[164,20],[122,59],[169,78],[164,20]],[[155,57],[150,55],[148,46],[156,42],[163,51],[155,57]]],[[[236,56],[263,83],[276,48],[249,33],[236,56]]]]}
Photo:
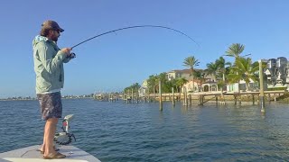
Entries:
{"type": "Polygon", "coordinates": [[[63,88],[63,63],[69,62],[70,58],[66,58],[66,54],[54,41],[39,35],[36,36],[33,40],[33,60],[36,94],[63,88]]]}

